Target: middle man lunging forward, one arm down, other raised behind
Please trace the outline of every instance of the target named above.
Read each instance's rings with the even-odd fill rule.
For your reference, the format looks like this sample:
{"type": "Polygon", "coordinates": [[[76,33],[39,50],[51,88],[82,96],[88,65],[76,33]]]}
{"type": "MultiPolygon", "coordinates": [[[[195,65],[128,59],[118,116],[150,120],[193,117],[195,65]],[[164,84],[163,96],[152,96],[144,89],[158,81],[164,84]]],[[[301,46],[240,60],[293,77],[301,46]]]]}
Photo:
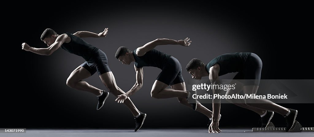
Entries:
{"type": "Polygon", "coordinates": [[[143,86],[143,67],[153,66],[158,67],[162,71],[156,78],[153,87],[151,89],[151,97],[153,98],[171,98],[177,97],[179,103],[186,105],[187,107],[198,111],[206,115],[209,119],[212,118],[212,112],[205,108],[200,103],[196,103],[196,100],[189,101],[187,98],[192,98],[195,94],[193,91],[187,91],[185,82],[181,74],[181,64],[173,56],[160,52],[154,49],[158,45],[182,45],[189,46],[191,44],[190,39],[185,40],[171,40],[171,39],[156,39],[141,47],[138,47],[134,51],[129,50],[126,47],[119,47],[116,51],[116,58],[123,64],[130,65],[134,63],[134,69],[136,72],[136,82],[134,86],[125,94],[118,96],[116,101],[122,101],[127,97],[133,95],[143,86]],[[166,88],[168,86],[171,88],[166,88]]]}

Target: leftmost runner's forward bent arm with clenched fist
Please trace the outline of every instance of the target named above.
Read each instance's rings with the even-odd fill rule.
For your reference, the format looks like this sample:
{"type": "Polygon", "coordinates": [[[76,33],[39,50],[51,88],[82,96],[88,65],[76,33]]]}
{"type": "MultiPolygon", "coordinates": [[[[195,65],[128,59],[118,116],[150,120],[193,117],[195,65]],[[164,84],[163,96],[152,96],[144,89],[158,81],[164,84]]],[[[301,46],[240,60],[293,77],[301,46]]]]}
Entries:
{"type": "Polygon", "coordinates": [[[30,51],[39,55],[51,55],[55,52],[63,43],[68,43],[71,41],[71,38],[67,34],[59,35],[56,41],[51,44],[48,48],[34,48],[30,47],[28,44],[22,44],[22,50],[30,51]]]}

